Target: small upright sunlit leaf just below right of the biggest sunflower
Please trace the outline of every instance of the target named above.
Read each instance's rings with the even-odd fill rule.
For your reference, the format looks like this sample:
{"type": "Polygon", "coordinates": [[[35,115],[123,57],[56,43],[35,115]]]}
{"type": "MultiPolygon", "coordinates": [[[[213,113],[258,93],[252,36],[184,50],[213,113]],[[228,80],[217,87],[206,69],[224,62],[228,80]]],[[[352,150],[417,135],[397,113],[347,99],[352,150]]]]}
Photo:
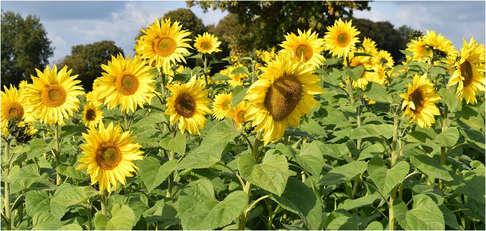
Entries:
{"type": "Polygon", "coordinates": [[[312,175],[320,175],[324,157],[321,154],[317,142],[306,143],[300,147],[300,154],[295,156],[297,163],[312,175]]]}

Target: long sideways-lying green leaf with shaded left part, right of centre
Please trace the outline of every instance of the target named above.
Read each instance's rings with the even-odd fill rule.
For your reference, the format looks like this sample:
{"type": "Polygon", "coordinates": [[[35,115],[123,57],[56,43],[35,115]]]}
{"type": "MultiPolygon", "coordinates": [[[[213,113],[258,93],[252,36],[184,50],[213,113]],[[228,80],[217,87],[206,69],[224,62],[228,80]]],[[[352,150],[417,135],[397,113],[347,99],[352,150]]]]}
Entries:
{"type": "Polygon", "coordinates": [[[366,170],[366,162],[355,161],[346,165],[335,167],[317,182],[321,185],[340,184],[358,178],[366,170]]]}

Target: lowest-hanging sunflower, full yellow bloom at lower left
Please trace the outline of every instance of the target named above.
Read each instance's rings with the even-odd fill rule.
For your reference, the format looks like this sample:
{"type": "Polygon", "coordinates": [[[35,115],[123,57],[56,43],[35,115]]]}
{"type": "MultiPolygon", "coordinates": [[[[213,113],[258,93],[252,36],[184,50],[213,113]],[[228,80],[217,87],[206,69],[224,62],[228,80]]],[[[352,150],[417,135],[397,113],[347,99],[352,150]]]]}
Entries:
{"type": "Polygon", "coordinates": [[[83,133],[86,144],[81,145],[83,156],[78,159],[82,164],[76,169],[87,168],[90,175],[91,185],[100,183],[100,194],[104,189],[108,193],[117,190],[117,181],[126,184],[126,177],[133,177],[130,172],[138,169],[133,164],[135,160],[141,160],[138,143],[133,143],[135,136],[130,136],[130,132],[121,132],[120,125],[113,127],[111,122],[108,127],[103,123],[95,127],[90,127],[88,133],[83,133]]]}

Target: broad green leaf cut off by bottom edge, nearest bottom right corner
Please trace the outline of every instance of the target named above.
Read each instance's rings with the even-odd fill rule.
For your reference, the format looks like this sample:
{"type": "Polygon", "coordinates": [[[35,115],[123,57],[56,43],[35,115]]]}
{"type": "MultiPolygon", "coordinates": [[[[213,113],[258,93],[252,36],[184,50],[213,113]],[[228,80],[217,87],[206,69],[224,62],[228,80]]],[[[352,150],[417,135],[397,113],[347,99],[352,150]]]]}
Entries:
{"type": "Polygon", "coordinates": [[[414,197],[412,210],[405,214],[405,230],[445,230],[444,216],[437,204],[427,195],[414,197]]]}

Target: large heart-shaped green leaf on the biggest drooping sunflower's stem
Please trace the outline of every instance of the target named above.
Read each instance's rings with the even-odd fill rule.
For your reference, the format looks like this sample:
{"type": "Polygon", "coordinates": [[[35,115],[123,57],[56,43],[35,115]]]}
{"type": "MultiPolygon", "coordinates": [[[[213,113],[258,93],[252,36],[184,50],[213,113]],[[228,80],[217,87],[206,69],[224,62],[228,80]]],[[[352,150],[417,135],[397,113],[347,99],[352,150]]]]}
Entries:
{"type": "Polygon", "coordinates": [[[238,169],[246,181],[278,196],[282,195],[290,176],[289,163],[285,156],[267,151],[263,162],[258,164],[251,154],[243,153],[237,161],[238,169]]]}

